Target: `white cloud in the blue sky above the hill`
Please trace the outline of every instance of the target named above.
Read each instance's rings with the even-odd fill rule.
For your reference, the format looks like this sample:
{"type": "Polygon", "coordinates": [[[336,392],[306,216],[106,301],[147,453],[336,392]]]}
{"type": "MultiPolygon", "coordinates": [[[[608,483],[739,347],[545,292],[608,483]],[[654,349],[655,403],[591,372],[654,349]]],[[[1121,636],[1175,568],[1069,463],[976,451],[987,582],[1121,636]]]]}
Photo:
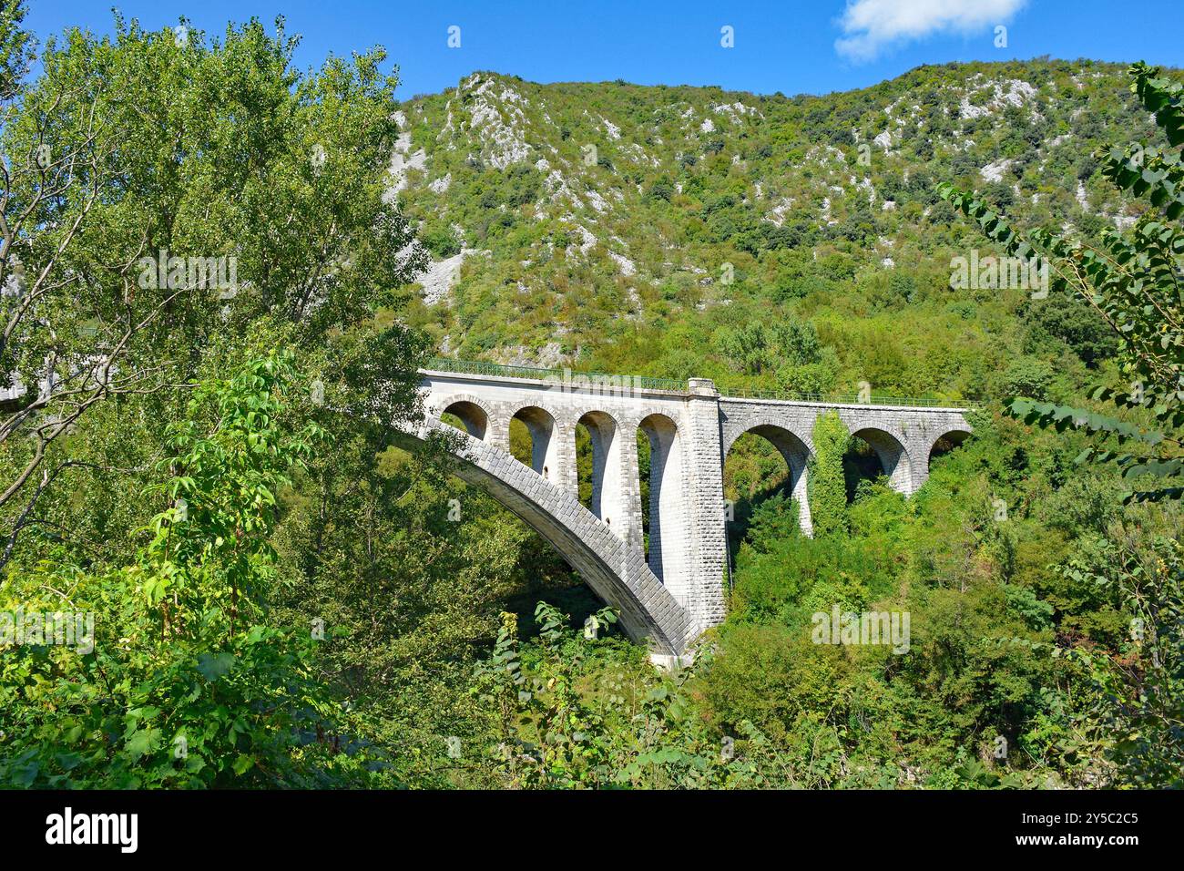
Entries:
{"type": "Polygon", "coordinates": [[[889,45],[1004,24],[1027,0],[848,0],[835,51],[871,60],[889,45]]]}

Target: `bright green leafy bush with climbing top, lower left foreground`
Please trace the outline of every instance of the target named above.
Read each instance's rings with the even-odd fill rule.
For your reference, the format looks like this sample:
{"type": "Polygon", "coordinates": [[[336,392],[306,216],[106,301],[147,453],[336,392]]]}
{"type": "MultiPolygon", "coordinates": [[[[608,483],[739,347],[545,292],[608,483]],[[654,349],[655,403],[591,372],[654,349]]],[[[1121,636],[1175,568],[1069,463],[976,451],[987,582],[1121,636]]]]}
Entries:
{"type": "Polygon", "coordinates": [[[45,562],[5,588],[7,613],[95,623],[88,645],[0,659],[0,783],[295,786],[324,770],[301,737],[333,730],[316,633],[263,622],[277,494],[324,437],[294,415],[292,357],[253,357],[194,391],[150,488],[168,507],[134,564],[45,562]]]}

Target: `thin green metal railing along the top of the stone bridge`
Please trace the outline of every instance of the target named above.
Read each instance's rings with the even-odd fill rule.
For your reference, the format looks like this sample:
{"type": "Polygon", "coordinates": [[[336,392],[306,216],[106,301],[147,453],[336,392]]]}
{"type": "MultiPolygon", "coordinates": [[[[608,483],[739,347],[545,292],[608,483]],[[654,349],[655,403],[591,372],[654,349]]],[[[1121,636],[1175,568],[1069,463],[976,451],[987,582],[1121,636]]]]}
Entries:
{"type": "MultiPolygon", "coordinates": [[[[654,378],[643,374],[611,374],[609,372],[578,371],[571,369],[543,369],[541,366],[508,366],[485,360],[461,360],[451,357],[432,357],[425,367],[436,372],[455,372],[457,374],[487,374],[501,378],[529,378],[532,380],[559,379],[570,383],[579,376],[593,384],[611,384],[633,390],[671,390],[680,393],[689,392],[687,382],[674,378],[654,378]]],[[[794,393],[785,391],[759,390],[715,382],[720,396],[728,399],[780,399],[781,402],[815,402],[843,405],[906,405],[913,408],[954,408],[955,399],[919,399],[906,396],[871,396],[861,399],[858,393],[794,393]]]]}

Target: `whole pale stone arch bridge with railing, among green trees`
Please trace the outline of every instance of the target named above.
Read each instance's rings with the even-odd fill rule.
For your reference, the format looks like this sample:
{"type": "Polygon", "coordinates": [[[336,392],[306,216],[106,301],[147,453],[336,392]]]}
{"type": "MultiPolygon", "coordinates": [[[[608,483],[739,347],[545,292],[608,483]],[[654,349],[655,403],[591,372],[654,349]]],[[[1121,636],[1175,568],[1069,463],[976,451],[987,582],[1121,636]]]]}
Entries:
{"type": "Polygon", "coordinates": [[[425,417],[410,434],[446,429],[445,414],[468,433],[456,474],[488,491],[551,542],[607,603],[625,632],[649,639],[670,661],[723,619],[727,568],[723,461],[736,438],[772,442],[810,532],[806,499],[811,433],[819,414],[837,410],[852,435],[880,459],[889,483],[914,493],[928,478],[929,455],[970,434],[964,410],[920,403],[835,403],[721,396],[713,382],[572,373],[461,360],[422,370],[425,417]],[[510,422],[530,434],[530,465],[510,454],[510,422]],[[592,499],[579,499],[575,429],[592,444],[592,499]],[[649,553],[643,544],[636,438],[650,443],[649,553]]]}

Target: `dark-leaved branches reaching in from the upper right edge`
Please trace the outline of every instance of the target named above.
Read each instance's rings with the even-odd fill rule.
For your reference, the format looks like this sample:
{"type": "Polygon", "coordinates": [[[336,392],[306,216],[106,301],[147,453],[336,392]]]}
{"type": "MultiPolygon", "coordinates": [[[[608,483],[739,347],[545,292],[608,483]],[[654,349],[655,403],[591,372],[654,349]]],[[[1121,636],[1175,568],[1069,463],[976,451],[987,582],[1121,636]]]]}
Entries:
{"type": "Polygon", "coordinates": [[[1158,68],[1146,64],[1133,65],[1131,76],[1131,90],[1154,114],[1167,147],[1131,143],[1094,155],[1106,178],[1150,201],[1130,235],[1106,230],[1101,244],[1092,245],[1053,230],[1018,230],[977,193],[952,185],[939,190],[1010,256],[1047,263],[1051,290],[1079,296],[1121,341],[1121,372],[1128,386],[1098,386],[1090,398],[1111,403],[1128,420],[1031,398],[1012,401],[1008,412],[1029,424],[1093,436],[1079,461],[1113,463],[1131,487],[1128,499],[1157,501],[1184,497],[1184,300],[1179,289],[1184,85],[1160,77],[1158,68]],[[1143,425],[1144,421],[1158,425],[1143,425]],[[1137,450],[1121,449],[1125,446],[1137,450]]]}

